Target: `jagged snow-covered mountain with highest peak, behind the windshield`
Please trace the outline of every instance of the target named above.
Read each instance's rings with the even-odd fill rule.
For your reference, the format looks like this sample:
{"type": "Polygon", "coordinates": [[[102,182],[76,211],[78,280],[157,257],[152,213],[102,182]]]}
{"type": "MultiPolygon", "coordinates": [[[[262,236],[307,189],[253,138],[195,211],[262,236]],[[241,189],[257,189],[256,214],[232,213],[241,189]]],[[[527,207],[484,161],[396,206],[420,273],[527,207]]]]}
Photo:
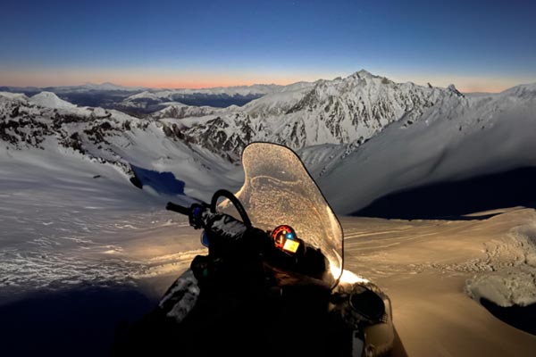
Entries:
{"type": "Polygon", "coordinates": [[[291,85],[217,116],[176,124],[181,137],[210,150],[223,148],[232,160],[239,160],[251,141],[293,149],[322,144],[356,147],[391,122],[413,123],[436,102],[461,97],[453,88],[398,84],[359,71],[346,79],[291,85]]]}

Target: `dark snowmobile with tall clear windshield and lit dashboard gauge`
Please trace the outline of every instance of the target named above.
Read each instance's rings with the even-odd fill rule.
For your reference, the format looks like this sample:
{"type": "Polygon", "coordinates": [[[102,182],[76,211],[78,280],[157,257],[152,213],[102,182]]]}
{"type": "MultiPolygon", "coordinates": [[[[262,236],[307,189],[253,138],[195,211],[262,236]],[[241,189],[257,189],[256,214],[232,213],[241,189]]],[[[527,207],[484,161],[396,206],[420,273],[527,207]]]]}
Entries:
{"type": "Polygon", "coordinates": [[[343,269],[343,231],[297,154],[247,145],[245,183],[211,203],[168,203],[203,229],[197,255],[113,354],[381,356],[389,297],[343,269]],[[224,200],[219,203],[220,199],[224,200]]]}

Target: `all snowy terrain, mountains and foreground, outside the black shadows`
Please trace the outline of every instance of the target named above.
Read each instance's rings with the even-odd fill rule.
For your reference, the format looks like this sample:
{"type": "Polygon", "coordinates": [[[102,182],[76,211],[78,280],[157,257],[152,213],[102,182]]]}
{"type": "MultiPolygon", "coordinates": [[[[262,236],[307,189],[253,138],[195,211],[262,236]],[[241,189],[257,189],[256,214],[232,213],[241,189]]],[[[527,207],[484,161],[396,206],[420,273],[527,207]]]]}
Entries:
{"type": "MultiPolygon", "coordinates": [[[[247,142],[275,141],[299,148],[345,213],[406,187],[536,165],[534,85],[464,96],[360,71],[240,108],[175,107],[147,120],[51,93],[2,93],[0,104],[0,311],[80,286],[130,286],[155,299],[205,252],[199,232],[163,210],[188,198],[139,190],[129,164],[172,172],[187,195],[207,199],[216,188],[239,188],[243,172],[233,161],[247,142]]],[[[346,268],[390,295],[408,355],[532,355],[536,337],[495,319],[478,299],[536,303],[534,210],[342,224],[346,268]]]]}

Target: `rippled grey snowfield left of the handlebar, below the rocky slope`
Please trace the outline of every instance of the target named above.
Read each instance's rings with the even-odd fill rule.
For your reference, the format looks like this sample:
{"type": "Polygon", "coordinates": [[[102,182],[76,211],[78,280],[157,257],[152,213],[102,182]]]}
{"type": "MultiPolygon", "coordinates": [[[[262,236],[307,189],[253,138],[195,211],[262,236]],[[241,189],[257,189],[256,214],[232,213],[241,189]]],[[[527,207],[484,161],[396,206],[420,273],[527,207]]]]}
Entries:
{"type": "MultiPolygon", "coordinates": [[[[84,161],[80,154],[3,154],[0,302],[39,288],[153,274],[155,262],[143,251],[121,256],[125,244],[180,221],[162,210],[165,197],[139,190],[115,166],[84,161]]],[[[177,242],[177,253],[190,247],[177,242]]],[[[154,243],[151,249],[158,251],[154,243]]]]}

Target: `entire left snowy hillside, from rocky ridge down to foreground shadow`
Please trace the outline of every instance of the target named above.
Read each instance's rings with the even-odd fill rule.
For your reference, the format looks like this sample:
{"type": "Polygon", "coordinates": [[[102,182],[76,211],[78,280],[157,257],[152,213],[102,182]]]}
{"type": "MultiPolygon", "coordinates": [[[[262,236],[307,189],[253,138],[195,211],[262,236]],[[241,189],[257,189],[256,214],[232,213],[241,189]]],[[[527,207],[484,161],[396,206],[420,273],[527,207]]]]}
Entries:
{"type": "Polygon", "coordinates": [[[37,98],[0,93],[0,302],[41,288],[128,284],[189,263],[180,249],[195,251],[198,240],[169,234],[163,248],[140,249],[137,237],[177,219],[164,211],[170,200],[188,204],[209,200],[214,187],[237,189],[241,170],[166,136],[159,121],[37,98]],[[134,187],[130,165],[171,172],[188,196],[134,187]],[[167,253],[151,261],[159,249],[167,253]]]}

